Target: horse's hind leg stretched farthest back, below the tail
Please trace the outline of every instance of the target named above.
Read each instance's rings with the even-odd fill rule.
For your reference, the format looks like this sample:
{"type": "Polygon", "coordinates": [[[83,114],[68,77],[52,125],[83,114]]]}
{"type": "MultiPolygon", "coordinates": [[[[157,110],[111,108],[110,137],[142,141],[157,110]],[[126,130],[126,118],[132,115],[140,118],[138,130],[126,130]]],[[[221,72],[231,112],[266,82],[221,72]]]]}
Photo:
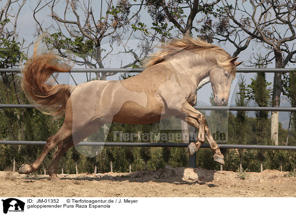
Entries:
{"type": "Polygon", "coordinates": [[[29,174],[37,171],[48,152],[50,152],[57,144],[61,143],[66,138],[69,138],[71,134],[71,127],[69,128],[65,124],[63,124],[63,126],[55,135],[47,139],[46,144],[44,145],[41,154],[39,155],[37,160],[31,165],[23,164],[19,169],[19,173],[29,174]]]}

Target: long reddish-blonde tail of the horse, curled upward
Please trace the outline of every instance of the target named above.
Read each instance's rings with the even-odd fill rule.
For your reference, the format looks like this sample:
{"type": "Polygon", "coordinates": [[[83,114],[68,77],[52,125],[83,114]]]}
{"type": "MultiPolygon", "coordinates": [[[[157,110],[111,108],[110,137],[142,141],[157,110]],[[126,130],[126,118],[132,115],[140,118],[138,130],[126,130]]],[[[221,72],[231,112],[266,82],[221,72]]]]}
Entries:
{"type": "Polygon", "coordinates": [[[64,114],[67,100],[73,86],[67,84],[54,85],[48,80],[54,72],[69,72],[71,67],[59,63],[59,57],[53,52],[30,58],[23,69],[22,87],[29,100],[37,104],[44,113],[60,117],[64,114]]]}

